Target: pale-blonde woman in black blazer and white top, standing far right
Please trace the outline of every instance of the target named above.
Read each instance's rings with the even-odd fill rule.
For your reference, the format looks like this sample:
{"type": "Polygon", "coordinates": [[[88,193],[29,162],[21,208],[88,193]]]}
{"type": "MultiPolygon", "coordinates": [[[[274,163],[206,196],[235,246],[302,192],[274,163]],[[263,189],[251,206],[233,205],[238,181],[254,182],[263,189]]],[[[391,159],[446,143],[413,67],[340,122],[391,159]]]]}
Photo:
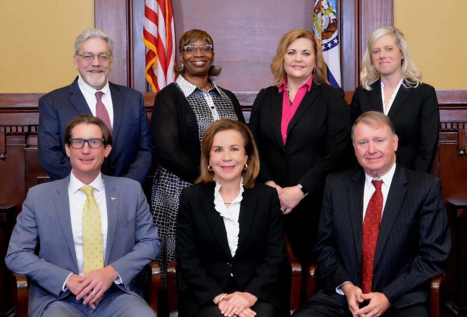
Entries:
{"type": "Polygon", "coordinates": [[[438,99],[434,88],[422,83],[402,32],[394,27],[376,29],[361,64],[361,86],[350,107],[352,121],[367,111],[384,112],[396,127],[399,162],[430,172],[438,150],[438,99]]]}

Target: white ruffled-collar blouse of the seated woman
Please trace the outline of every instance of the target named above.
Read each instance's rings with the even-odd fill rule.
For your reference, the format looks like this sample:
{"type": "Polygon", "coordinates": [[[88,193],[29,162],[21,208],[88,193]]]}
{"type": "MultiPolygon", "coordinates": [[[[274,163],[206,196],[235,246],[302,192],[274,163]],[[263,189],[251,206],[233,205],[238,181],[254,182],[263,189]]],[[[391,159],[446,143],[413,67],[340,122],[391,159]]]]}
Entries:
{"type": "MultiPolygon", "coordinates": [[[[238,217],[240,215],[240,203],[243,199],[242,193],[244,191],[243,188],[243,178],[240,179],[240,193],[238,193],[237,197],[232,200],[232,203],[227,208],[224,200],[220,196],[219,189],[221,185],[216,180],[216,187],[214,188],[214,208],[219,214],[222,216],[224,220],[224,226],[226,227],[227,232],[227,242],[229,244],[230,254],[235,256],[235,252],[237,251],[238,247],[238,234],[240,232],[240,224],[238,222],[238,217]]],[[[232,273],[230,276],[233,276],[232,273]]]]}

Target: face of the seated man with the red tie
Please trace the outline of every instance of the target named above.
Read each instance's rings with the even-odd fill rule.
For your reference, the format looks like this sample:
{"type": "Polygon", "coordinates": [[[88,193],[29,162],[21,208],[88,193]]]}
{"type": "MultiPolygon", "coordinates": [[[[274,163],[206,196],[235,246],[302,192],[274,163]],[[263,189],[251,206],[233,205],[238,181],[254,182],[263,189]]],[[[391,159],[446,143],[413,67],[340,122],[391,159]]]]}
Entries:
{"type": "Polygon", "coordinates": [[[355,156],[370,176],[381,177],[396,162],[398,138],[386,125],[370,126],[358,123],[354,130],[355,156]]]}

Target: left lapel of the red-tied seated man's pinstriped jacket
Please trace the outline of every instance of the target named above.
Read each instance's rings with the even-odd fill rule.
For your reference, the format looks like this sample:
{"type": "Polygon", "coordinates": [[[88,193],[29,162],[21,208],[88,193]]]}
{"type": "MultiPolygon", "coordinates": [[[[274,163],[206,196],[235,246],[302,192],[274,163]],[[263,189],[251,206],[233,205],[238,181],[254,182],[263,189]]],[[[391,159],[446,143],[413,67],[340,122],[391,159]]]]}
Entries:
{"type": "Polygon", "coordinates": [[[349,202],[350,222],[354,234],[358,261],[361,264],[361,235],[363,223],[363,190],[365,186],[365,173],[359,170],[352,177],[353,182],[347,186],[347,200],[349,202]]]}

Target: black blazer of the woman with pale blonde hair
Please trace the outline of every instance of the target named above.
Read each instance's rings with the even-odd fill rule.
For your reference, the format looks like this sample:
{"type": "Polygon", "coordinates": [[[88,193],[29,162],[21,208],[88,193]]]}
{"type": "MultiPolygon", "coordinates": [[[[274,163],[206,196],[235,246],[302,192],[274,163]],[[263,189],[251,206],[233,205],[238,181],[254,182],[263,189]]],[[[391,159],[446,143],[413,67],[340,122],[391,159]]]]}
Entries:
{"type": "MultiPolygon", "coordinates": [[[[373,90],[357,87],[352,97],[350,112],[352,122],[364,112],[381,111],[381,80],[370,85],[373,90]]],[[[402,165],[412,170],[430,172],[438,150],[439,109],[435,89],[425,83],[417,88],[399,88],[389,109],[399,138],[397,158],[402,165]]]]}

